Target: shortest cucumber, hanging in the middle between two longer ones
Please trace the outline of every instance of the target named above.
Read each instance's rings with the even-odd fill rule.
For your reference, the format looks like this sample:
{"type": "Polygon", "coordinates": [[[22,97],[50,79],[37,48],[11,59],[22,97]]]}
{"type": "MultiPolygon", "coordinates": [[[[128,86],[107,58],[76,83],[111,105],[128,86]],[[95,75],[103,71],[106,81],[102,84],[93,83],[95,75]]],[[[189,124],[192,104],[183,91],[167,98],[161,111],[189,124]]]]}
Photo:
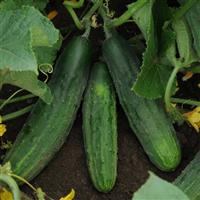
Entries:
{"type": "Polygon", "coordinates": [[[100,192],[109,192],[117,177],[117,112],[107,66],[93,66],[83,103],[84,147],[90,177],[100,192]]]}

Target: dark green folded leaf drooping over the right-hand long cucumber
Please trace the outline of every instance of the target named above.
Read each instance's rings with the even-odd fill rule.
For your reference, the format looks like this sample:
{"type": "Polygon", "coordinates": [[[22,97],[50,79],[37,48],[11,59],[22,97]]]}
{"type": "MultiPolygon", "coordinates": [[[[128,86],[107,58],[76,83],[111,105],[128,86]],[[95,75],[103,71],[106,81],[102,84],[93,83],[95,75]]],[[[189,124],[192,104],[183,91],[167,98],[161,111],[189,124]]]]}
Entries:
{"type": "Polygon", "coordinates": [[[169,79],[171,68],[161,65],[158,59],[159,39],[161,27],[169,17],[169,9],[165,1],[150,0],[143,8],[136,12],[133,20],[140,28],[146,39],[146,51],[143,55],[143,64],[133,90],[136,94],[149,98],[161,98],[164,95],[165,87],[169,79]],[[159,18],[155,16],[158,8],[162,11],[159,18]]]}

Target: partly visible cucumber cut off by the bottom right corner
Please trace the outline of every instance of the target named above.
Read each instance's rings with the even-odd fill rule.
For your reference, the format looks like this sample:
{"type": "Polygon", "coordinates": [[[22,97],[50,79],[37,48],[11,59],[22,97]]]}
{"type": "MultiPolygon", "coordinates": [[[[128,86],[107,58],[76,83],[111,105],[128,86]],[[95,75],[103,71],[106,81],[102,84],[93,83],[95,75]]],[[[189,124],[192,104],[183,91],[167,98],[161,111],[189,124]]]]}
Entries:
{"type": "Polygon", "coordinates": [[[178,186],[191,200],[200,199],[200,151],[182,171],[174,184],[178,186]]]}

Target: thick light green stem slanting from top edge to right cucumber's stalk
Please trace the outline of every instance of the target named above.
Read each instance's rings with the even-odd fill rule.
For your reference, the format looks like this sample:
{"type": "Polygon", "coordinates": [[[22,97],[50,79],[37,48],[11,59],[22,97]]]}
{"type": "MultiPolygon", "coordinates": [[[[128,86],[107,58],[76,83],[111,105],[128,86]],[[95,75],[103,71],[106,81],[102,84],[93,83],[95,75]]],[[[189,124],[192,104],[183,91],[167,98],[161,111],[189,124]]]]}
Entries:
{"type": "Polygon", "coordinates": [[[128,10],[124,12],[120,17],[115,18],[110,21],[111,27],[117,27],[126,23],[133,14],[142,8],[148,0],[138,0],[137,2],[131,3],[128,5],[128,10]]]}

